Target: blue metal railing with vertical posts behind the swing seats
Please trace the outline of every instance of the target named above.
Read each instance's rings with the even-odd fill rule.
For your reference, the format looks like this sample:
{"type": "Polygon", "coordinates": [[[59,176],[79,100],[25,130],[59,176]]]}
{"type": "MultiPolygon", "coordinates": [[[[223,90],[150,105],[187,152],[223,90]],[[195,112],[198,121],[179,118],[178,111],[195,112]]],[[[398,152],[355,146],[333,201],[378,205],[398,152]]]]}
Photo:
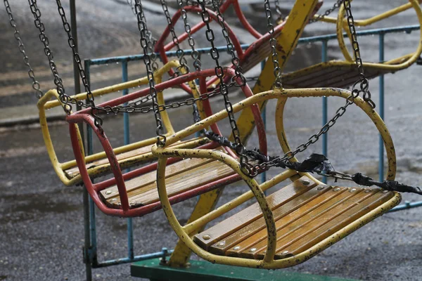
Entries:
{"type": "MultiPolygon", "coordinates": [[[[390,33],[397,33],[397,32],[405,32],[407,34],[410,34],[414,30],[419,30],[419,25],[409,25],[404,27],[394,27],[394,28],[381,28],[376,30],[365,30],[365,31],[359,31],[357,34],[359,36],[369,36],[369,35],[378,35],[379,37],[379,61],[382,62],[384,60],[384,37],[385,34],[390,33]]],[[[344,34],[346,36],[346,34],[344,34]]],[[[328,35],[321,35],[316,37],[306,37],[299,40],[299,44],[307,44],[312,42],[319,42],[321,43],[321,61],[327,60],[327,52],[328,52],[328,41],[337,39],[336,34],[328,34],[328,35]]],[[[243,44],[242,48],[248,48],[248,44],[243,44]]],[[[219,51],[226,51],[226,46],[218,47],[219,51]]],[[[210,48],[200,48],[197,50],[199,53],[209,53],[210,48]]],[[[189,55],[191,53],[190,50],[185,51],[186,55],[189,55]]],[[[167,52],[167,55],[169,57],[176,56],[175,51],[169,51],[167,52]]],[[[90,67],[92,65],[107,65],[108,63],[122,63],[122,81],[128,80],[128,71],[127,71],[127,65],[131,61],[137,61],[142,60],[143,55],[125,55],[125,56],[118,56],[113,58],[98,58],[98,59],[92,59],[92,60],[85,60],[84,61],[84,67],[87,72],[87,77],[89,79],[90,75],[90,67]]],[[[380,101],[378,103],[379,108],[379,114],[381,115],[381,118],[384,118],[384,77],[379,77],[379,96],[380,101]]],[[[89,81],[89,80],[88,80],[89,81]]],[[[123,95],[126,95],[128,93],[128,90],[123,91],[123,95]]],[[[326,124],[328,121],[327,118],[327,112],[328,112],[328,100],[327,98],[323,98],[322,101],[322,123],[326,124]]],[[[262,115],[265,120],[265,110],[262,111],[262,115]]],[[[129,143],[129,115],[124,114],[124,144],[129,143]]],[[[92,133],[91,130],[87,129],[87,141],[88,141],[88,152],[92,153],[92,133]]],[[[378,166],[378,173],[381,179],[383,179],[384,176],[384,147],[383,147],[383,141],[380,137],[380,143],[379,143],[379,166],[378,166]]],[[[324,155],[327,155],[328,153],[328,136],[327,134],[323,135],[322,138],[322,152],[324,155]]],[[[262,175],[262,181],[265,181],[265,174],[262,175]]],[[[323,179],[324,182],[326,182],[326,178],[323,179]]],[[[422,207],[422,202],[405,202],[402,205],[399,205],[392,209],[391,211],[399,211],[402,209],[409,209],[413,207],[422,207]]],[[[91,198],[89,198],[89,217],[85,218],[85,224],[84,224],[86,231],[89,231],[89,243],[90,247],[89,249],[86,249],[85,259],[87,259],[87,263],[90,263],[93,268],[101,268],[106,266],[114,266],[117,264],[122,263],[132,263],[135,261],[143,261],[146,259],[154,259],[158,257],[165,257],[169,254],[171,254],[172,251],[167,251],[167,249],[163,248],[162,251],[159,251],[157,253],[153,254],[144,254],[141,256],[134,256],[134,244],[133,244],[133,223],[132,218],[127,219],[127,247],[128,247],[128,256],[122,259],[112,259],[108,261],[101,261],[98,262],[96,259],[97,256],[97,243],[96,243],[96,222],[95,222],[95,208],[94,208],[94,202],[92,202],[91,198]],[[89,218],[89,221],[87,222],[87,219],[89,218]],[[87,230],[87,228],[89,228],[87,230]]],[[[87,237],[87,233],[86,236],[87,237]]],[[[87,247],[87,244],[85,244],[87,247]]]]}

